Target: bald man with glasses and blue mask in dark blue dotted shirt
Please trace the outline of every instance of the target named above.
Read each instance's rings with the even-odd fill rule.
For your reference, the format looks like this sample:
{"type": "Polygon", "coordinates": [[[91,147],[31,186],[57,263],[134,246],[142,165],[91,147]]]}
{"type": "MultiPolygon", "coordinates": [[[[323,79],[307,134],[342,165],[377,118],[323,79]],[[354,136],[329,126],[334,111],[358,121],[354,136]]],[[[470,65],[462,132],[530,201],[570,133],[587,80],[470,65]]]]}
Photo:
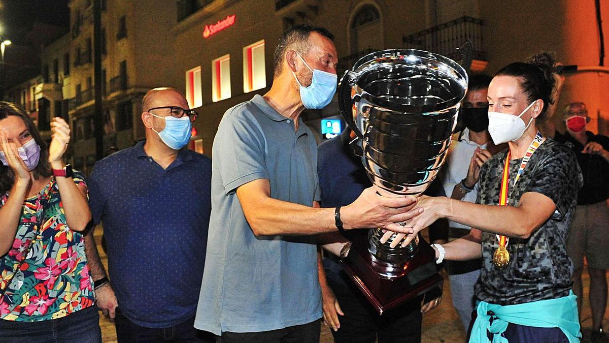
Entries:
{"type": "Polygon", "coordinates": [[[93,223],[104,223],[109,275],[93,230],[86,255],[97,306],[115,320],[118,342],[208,341],[193,324],[211,211],[211,161],[185,148],[197,118],[188,108],[173,88],[150,90],[141,115],[146,140],[97,162],[89,179],[93,223]]]}

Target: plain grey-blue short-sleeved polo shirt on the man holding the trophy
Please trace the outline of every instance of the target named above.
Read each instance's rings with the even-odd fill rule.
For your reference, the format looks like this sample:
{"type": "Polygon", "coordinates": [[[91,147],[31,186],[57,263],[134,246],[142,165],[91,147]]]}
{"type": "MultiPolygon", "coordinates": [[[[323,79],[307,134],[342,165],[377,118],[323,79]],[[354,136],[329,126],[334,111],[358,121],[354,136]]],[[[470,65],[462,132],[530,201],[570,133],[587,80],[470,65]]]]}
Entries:
{"type": "Polygon", "coordinates": [[[256,237],[236,189],[268,179],[271,197],[319,200],[317,145],[299,119],[256,95],[228,109],[213,145],[211,218],[195,328],[259,332],[322,317],[315,236],[256,237]]]}

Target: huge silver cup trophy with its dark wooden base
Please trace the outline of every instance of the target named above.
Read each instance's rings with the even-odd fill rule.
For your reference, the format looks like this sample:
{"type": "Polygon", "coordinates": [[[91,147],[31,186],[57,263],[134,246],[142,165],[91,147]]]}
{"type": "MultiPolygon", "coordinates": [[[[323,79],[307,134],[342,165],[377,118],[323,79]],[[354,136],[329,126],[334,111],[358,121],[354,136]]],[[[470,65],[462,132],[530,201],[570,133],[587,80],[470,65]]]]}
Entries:
{"type": "MultiPolygon", "coordinates": [[[[471,43],[459,49],[462,63],[470,63],[471,43]]],[[[416,196],[428,188],[445,161],[467,83],[459,63],[414,49],[373,52],[345,73],[340,112],[379,194],[416,196]]],[[[385,244],[382,235],[377,228],[354,239],[341,261],[380,313],[442,282],[427,242],[417,235],[407,247],[391,248],[396,235],[385,244]]]]}

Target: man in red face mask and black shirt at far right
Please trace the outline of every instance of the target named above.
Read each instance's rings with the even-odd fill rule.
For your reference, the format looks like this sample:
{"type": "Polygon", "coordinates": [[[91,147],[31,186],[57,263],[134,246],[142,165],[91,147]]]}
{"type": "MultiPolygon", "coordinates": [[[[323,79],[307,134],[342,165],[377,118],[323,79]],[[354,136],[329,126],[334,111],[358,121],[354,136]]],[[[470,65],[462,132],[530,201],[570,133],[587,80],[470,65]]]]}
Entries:
{"type": "Polygon", "coordinates": [[[603,318],[607,308],[607,269],[609,269],[609,137],[586,130],[590,122],[584,103],[565,107],[566,132],[556,132],[554,139],[571,148],[583,174],[583,187],[577,195],[577,208],[567,240],[567,251],[573,260],[573,292],[582,317],[583,258],[590,274],[590,308],[592,341],[604,342],[603,318]]]}

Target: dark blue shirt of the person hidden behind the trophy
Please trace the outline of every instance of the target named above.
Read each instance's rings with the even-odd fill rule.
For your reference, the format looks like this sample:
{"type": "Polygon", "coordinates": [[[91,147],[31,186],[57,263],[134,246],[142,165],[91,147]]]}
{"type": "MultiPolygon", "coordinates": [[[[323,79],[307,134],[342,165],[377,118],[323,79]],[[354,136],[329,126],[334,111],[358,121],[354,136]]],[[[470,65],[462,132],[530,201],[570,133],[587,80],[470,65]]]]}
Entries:
{"type": "MultiPolygon", "coordinates": [[[[349,134],[350,130],[346,129],[337,137],[319,145],[317,175],[322,192],[320,201],[322,208],[347,206],[353,203],[364,192],[364,189],[372,186],[364,165],[362,165],[361,157],[356,156],[349,146],[351,141],[349,134]]],[[[425,194],[432,197],[445,197],[440,179],[434,179],[425,194]]],[[[366,232],[356,230],[355,233],[349,234],[366,234],[366,232]]],[[[448,239],[448,223],[445,220],[438,220],[430,226],[429,235],[431,240],[448,239]]],[[[342,268],[334,256],[324,258],[323,265],[328,278],[337,282],[347,282],[348,276],[342,272],[342,268]]]]}

